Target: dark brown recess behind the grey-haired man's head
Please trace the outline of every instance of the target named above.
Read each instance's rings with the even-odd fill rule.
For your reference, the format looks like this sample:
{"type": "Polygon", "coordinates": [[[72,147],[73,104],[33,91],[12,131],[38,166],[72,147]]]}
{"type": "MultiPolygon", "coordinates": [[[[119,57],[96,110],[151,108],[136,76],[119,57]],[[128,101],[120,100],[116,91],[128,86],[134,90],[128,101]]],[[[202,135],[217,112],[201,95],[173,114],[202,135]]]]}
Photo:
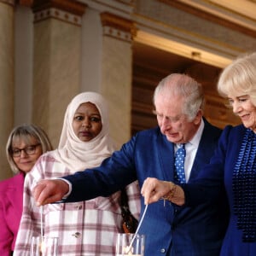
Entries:
{"type": "Polygon", "coordinates": [[[206,96],[205,117],[220,128],[237,125],[240,120],[225,107],[216,84],[221,68],[175,55],[145,44],[133,44],[131,135],[152,128],[156,123],[152,96],[155,86],[170,73],[187,73],[203,85],[206,96]]]}

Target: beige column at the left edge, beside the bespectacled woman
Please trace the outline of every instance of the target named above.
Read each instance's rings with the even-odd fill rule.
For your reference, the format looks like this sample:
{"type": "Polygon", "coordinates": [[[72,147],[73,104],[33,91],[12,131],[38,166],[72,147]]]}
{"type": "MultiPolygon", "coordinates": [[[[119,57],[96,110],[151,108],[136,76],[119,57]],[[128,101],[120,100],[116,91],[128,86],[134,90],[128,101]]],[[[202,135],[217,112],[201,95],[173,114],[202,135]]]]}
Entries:
{"type": "Polygon", "coordinates": [[[5,145],[14,124],[14,5],[0,0],[0,180],[12,176],[5,145]]]}

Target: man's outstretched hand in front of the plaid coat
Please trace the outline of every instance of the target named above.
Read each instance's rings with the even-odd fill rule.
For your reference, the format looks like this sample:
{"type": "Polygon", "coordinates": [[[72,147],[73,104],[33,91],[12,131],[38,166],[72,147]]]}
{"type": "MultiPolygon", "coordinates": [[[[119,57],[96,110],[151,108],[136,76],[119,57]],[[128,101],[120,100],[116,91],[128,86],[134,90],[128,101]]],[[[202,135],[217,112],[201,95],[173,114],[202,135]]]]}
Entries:
{"type": "Polygon", "coordinates": [[[68,193],[68,190],[68,184],[61,179],[44,179],[38,182],[32,193],[39,207],[55,201],[61,201],[63,196],[68,193]]]}

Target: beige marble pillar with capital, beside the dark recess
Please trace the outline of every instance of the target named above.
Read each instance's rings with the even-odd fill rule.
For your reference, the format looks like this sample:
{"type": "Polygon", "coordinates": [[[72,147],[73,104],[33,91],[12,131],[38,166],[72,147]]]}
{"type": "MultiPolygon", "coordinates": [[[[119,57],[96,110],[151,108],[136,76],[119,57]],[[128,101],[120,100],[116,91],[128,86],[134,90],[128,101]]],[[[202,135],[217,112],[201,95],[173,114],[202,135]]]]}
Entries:
{"type": "Polygon", "coordinates": [[[132,37],[131,20],[110,14],[102,19],[102,95],[109,102],[110,132],[117,146],[131,137],[132,37]]]}

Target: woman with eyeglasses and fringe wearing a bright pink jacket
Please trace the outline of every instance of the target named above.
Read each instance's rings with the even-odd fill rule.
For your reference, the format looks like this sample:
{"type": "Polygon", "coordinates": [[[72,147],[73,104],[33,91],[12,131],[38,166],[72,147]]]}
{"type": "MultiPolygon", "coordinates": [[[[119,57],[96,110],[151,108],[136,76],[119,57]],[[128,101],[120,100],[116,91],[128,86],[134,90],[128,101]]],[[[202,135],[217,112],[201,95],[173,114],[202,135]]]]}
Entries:
{"type": "Polygon", "coordinates": [[[12,255],[20,225],[23,205],[23,185],[27,172],[41,154],[52,150],[49,138],[37,125],[20,125],[9,135],[6,155],[15,173],[0,182],[0,255],[12,255]]]}

